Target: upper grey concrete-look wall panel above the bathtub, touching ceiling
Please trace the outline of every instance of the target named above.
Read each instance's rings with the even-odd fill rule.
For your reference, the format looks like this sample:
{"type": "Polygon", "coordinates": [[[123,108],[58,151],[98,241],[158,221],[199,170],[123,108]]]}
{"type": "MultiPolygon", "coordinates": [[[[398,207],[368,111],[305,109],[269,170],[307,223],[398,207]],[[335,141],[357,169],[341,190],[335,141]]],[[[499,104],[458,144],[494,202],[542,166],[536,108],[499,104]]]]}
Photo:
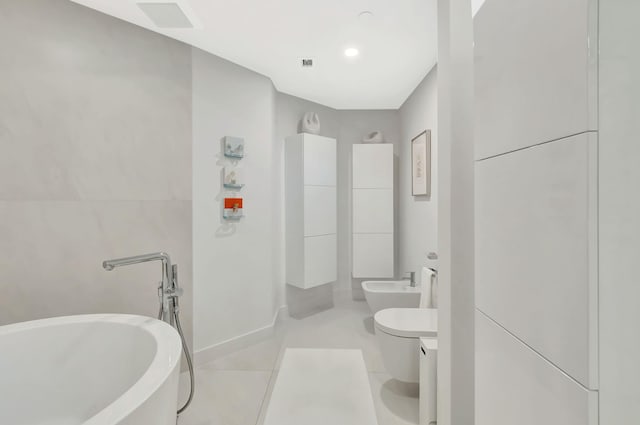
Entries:
{"type": "Polygon", "coordinates": [[[191,199],[189,47],[36,0],[0,5],[0,50],[0,199],[191,199]]]}

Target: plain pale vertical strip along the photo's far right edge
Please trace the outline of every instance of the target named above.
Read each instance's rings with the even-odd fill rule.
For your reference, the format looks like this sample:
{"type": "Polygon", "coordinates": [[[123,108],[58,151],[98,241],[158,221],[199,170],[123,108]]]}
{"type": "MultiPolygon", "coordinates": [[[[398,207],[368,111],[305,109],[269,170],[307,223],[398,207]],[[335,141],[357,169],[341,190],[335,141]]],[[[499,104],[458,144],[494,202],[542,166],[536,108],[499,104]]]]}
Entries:
{"type": "Polygon", "coordinates": [[[600,2],[600,424],[640,423],[640,3],[600,2]]]}

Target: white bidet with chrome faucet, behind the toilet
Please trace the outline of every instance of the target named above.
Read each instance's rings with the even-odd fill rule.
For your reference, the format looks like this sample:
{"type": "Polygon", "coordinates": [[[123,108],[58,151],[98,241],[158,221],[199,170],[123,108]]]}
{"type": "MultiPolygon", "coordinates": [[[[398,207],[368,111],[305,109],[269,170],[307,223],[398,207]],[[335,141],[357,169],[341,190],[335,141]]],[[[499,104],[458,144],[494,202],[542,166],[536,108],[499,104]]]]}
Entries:
{"type": "Polygon", "coordinates": [[[385,308],[420,306],[421,287],[412,287],[408,280],[367,280],[362,282],[362,289],[373,314],[385,308]]]}

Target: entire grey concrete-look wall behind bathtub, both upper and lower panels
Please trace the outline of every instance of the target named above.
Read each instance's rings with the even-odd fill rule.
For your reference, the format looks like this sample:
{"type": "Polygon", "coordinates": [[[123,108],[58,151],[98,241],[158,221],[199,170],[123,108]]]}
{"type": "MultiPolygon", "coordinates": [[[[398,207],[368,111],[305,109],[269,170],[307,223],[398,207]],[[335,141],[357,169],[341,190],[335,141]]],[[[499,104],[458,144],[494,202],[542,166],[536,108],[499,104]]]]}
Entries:
{"type": "Polygon", "coordinates": [[[156,316],[180,265],[191,334],[190,48],[66,1],[0,2],[0,325],[156,316]]]}

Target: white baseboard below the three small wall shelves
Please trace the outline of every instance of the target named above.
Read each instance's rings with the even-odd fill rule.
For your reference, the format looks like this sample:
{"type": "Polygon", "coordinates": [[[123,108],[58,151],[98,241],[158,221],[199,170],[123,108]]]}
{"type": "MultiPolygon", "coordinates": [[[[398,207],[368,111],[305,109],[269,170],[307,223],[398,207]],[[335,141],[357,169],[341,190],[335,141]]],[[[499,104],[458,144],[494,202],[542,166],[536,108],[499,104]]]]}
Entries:
{"type": "Polygon", "coordinates": [[[264,341],[273,335],[276,324],[282,320],[286,320],[288,316],[289,313],[287,306],[280,307],[276,311],[276,314],[274,314],[273,320],[269,325],[196,351],[193,355],[194,365],[196,367],[202,366],[229,353],[241,350],[260,341],[264,341]]]}

